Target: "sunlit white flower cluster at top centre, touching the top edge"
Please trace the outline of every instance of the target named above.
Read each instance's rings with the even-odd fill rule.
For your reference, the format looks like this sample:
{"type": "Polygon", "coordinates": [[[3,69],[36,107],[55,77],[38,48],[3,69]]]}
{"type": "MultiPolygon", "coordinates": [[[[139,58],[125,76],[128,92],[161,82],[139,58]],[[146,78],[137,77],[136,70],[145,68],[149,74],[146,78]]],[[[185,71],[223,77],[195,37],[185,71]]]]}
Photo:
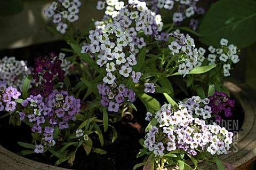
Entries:
{"type": "Polygon", "coordinates": [[[133,22],[135,22],[135,29],[132,28],[132,30],[142,30],[145,35],[157,35],[163,28],[161,15],[152,13],[145,2],[129,0],[128,5],[124,6],[124,2],[118,0],[99,1],[97,9],[105,9],[105,3],[107,3],[105,14],[112,17],[114,23],[119,22],[123,31],[126,28],[132,28],[130,26],[133,22]]]}

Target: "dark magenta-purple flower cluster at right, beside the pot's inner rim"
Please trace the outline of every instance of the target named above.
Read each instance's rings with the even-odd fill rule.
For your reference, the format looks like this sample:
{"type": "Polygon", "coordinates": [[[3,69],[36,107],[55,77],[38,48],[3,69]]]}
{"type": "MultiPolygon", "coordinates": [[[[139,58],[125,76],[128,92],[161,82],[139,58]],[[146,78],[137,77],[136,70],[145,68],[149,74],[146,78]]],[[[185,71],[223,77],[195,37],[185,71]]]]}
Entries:
{"type": "Polygon", "coordinates": [[[209,97],[209,100],[209,106],[212,108],[212,113],[215,114],[216,122],[220,123],[221,115],[219,113],[222,111],[224,111],[226,117],[232,116],[230,107],[234,107],[235,100],[230,100],[226,93],[214,92],[214,94],[209,97]]]}

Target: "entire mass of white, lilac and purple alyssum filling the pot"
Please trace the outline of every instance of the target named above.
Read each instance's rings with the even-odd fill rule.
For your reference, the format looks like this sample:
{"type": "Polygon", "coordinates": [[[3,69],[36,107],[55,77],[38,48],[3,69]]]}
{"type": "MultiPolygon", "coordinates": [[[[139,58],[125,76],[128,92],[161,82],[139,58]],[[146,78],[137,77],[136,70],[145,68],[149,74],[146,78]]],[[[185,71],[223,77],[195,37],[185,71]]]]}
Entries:
{"type": "Polygon", "coordinates": [[[111,127],[114,142],[117,136],[111,123],[121,120],[127,108],[136,114],[135,100],[141,100],[150,123],[138,156],[147,159],[134,169],[171,165],[191,169],[188,159],[194,169],[198,160],[211,158],[221,165],[217,155],[228,153],[233,133],[207,120],[215,117],[218,123],[223,112],[226,117],[232,115],[234,100],[226,94],[222,78],[239,61],[239,49],[224,36],[217,39],[220,46],[209,46],[210,53],[196,47],[193,37],[202,37],[197,29],[204,14],[196,4],[99,1],[97,9],[105,10],[103,19],[78,31],[73,22],[79,18],[81,2],[52,2],[44,11],[56,24],[49,29],[62,35],[70,45],[62,50],[71,56],[51,52],[35,58],[34,68],[15,58],[0,62],[0,109],[33,132],[32,144],[19,142],[29,149],[22,154],[50,152],[59,158],[55,163],[59,165],[73,159],[81,146],[87,154],[102,153],[92,147],[90,135],[97,134],[103,145],[102,130],[111,127]],[[162,21],[162,12],[168,13],[169,23],[162,21]],[[15,67],[21,71],[14,71],[15,67]],[[177,92],[187,99],[180,99],[177,92]]]}

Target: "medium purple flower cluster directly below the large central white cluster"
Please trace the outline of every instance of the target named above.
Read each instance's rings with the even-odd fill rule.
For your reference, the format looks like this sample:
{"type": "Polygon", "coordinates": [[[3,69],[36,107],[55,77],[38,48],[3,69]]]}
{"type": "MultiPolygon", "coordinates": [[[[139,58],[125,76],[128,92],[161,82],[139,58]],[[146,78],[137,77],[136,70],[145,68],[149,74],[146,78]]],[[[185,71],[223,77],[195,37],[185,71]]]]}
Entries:
{"type": "Polygon", "coordinates": [[[102,98],[100,103],[103,107],[108,106],[108,111],[118,112],[120,104],[125,100],[129,100],[130,102],[135,101],[134,91],[132,89],[126,88],[124,84],[120,84],[119,86],[112,84],[109,87],[103,83],[98,84],[97,88],[102,98]]]}

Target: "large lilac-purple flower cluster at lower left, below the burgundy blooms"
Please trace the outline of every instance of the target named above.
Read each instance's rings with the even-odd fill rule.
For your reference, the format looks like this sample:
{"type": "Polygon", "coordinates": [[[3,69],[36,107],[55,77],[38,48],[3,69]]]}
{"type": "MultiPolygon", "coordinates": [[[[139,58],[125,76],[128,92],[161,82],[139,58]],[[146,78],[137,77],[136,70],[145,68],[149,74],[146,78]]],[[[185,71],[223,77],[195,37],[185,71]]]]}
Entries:
{"type": "Polygon", "coordinates": [[[42,153],[44,147],[52,147],[56,143],[53,133],[56,126],[59,129],[69,128],[69,120],[76,120],[80,112],[80,99],[68,95],[67,91],[54,90],[44,98],[41,94],[30,95],[21,105],[20,120],[33,123],[32,132],[42,136],[41,145],[36,145],[35,152],[42,153]],[[43,146],[43,147],[42,147],[43,146]]]}

